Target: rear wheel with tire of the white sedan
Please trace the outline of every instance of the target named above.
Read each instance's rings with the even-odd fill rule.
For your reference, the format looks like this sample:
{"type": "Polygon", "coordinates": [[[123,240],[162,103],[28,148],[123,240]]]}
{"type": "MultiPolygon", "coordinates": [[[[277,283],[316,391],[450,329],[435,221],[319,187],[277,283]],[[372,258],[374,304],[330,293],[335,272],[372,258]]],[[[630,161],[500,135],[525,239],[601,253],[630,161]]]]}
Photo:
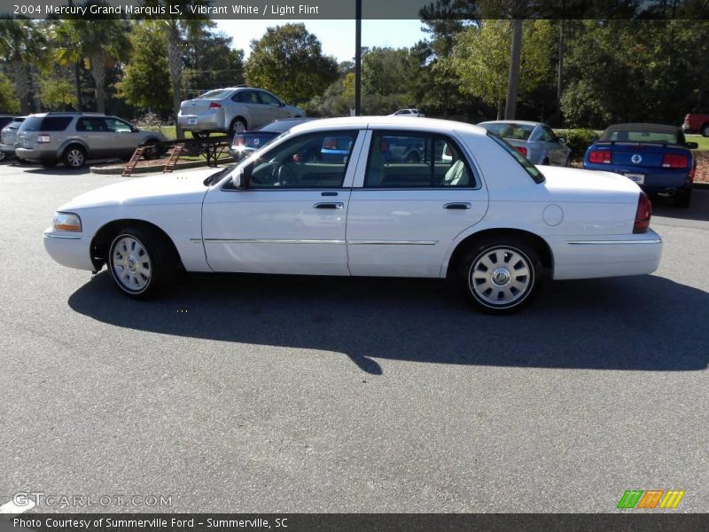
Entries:
{"type": "Polygon", "coordinates": [[[524,240],[499,237],[473,246],[464,254],[458,273],[476,309],[510,314],[532,301],[541,281],[541,261],[524,240]]]}

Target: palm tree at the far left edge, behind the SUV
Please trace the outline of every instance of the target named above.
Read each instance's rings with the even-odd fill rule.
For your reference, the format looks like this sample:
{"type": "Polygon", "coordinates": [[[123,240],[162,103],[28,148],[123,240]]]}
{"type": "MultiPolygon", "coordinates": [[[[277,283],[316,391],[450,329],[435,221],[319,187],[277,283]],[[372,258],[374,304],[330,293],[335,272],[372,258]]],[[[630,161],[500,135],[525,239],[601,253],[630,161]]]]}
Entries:
{"type": "Polygon", "coordinates": [[[27,19],[0,19],[0,56],[12,66],[12,81],[19,111],[30,113],[29,67],[43,63],[46,38],[40,27],[27,19]]]}

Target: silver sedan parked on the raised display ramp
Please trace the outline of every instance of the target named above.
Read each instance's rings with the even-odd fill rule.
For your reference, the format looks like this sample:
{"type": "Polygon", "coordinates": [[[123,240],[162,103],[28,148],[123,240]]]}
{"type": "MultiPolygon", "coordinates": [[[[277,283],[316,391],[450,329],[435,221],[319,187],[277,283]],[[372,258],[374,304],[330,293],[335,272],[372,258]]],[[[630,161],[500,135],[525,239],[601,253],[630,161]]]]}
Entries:
{"type": "Polygon", "coordinates": [[[191,131],[192,137],[205,138],[213,131],[242,133],[275,120],[302,116],[302,109],[284,104],[267,90],[228,87],[183,101],[177,122],[191,131]]]}

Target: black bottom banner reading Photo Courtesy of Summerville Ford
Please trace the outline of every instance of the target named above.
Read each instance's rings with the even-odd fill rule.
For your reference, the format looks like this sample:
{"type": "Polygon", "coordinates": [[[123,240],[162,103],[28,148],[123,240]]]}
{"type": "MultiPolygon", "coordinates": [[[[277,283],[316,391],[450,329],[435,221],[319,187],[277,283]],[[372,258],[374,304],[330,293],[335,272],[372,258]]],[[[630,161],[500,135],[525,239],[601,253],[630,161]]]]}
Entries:
{"type": "MultiPolygon", "coordinates": [[[[672,512],[672,511],[669,511],[672,512]]],[[[565,532],[705,531],[709,514],[412,514],[412,513],[36,513],[0,516],[0,532],[207,532],[277,530],[283,532],[565,532]]]]}

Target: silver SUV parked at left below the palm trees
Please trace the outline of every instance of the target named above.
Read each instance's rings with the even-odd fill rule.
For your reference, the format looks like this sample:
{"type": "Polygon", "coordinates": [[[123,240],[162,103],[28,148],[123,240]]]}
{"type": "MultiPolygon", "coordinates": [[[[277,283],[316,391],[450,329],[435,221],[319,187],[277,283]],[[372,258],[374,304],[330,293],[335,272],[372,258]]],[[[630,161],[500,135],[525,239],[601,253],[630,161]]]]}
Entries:
{"type": "Polygon", "coordinates": [[[152,145],[147,159],[158,154],[162,133],[142,131],[115,116],[97,113],[31,114],[19,126],[19,159],[51,168],[63,161],[68,168],[81,168],[89,159],[126,159],[140,145],[152,145]]]}

